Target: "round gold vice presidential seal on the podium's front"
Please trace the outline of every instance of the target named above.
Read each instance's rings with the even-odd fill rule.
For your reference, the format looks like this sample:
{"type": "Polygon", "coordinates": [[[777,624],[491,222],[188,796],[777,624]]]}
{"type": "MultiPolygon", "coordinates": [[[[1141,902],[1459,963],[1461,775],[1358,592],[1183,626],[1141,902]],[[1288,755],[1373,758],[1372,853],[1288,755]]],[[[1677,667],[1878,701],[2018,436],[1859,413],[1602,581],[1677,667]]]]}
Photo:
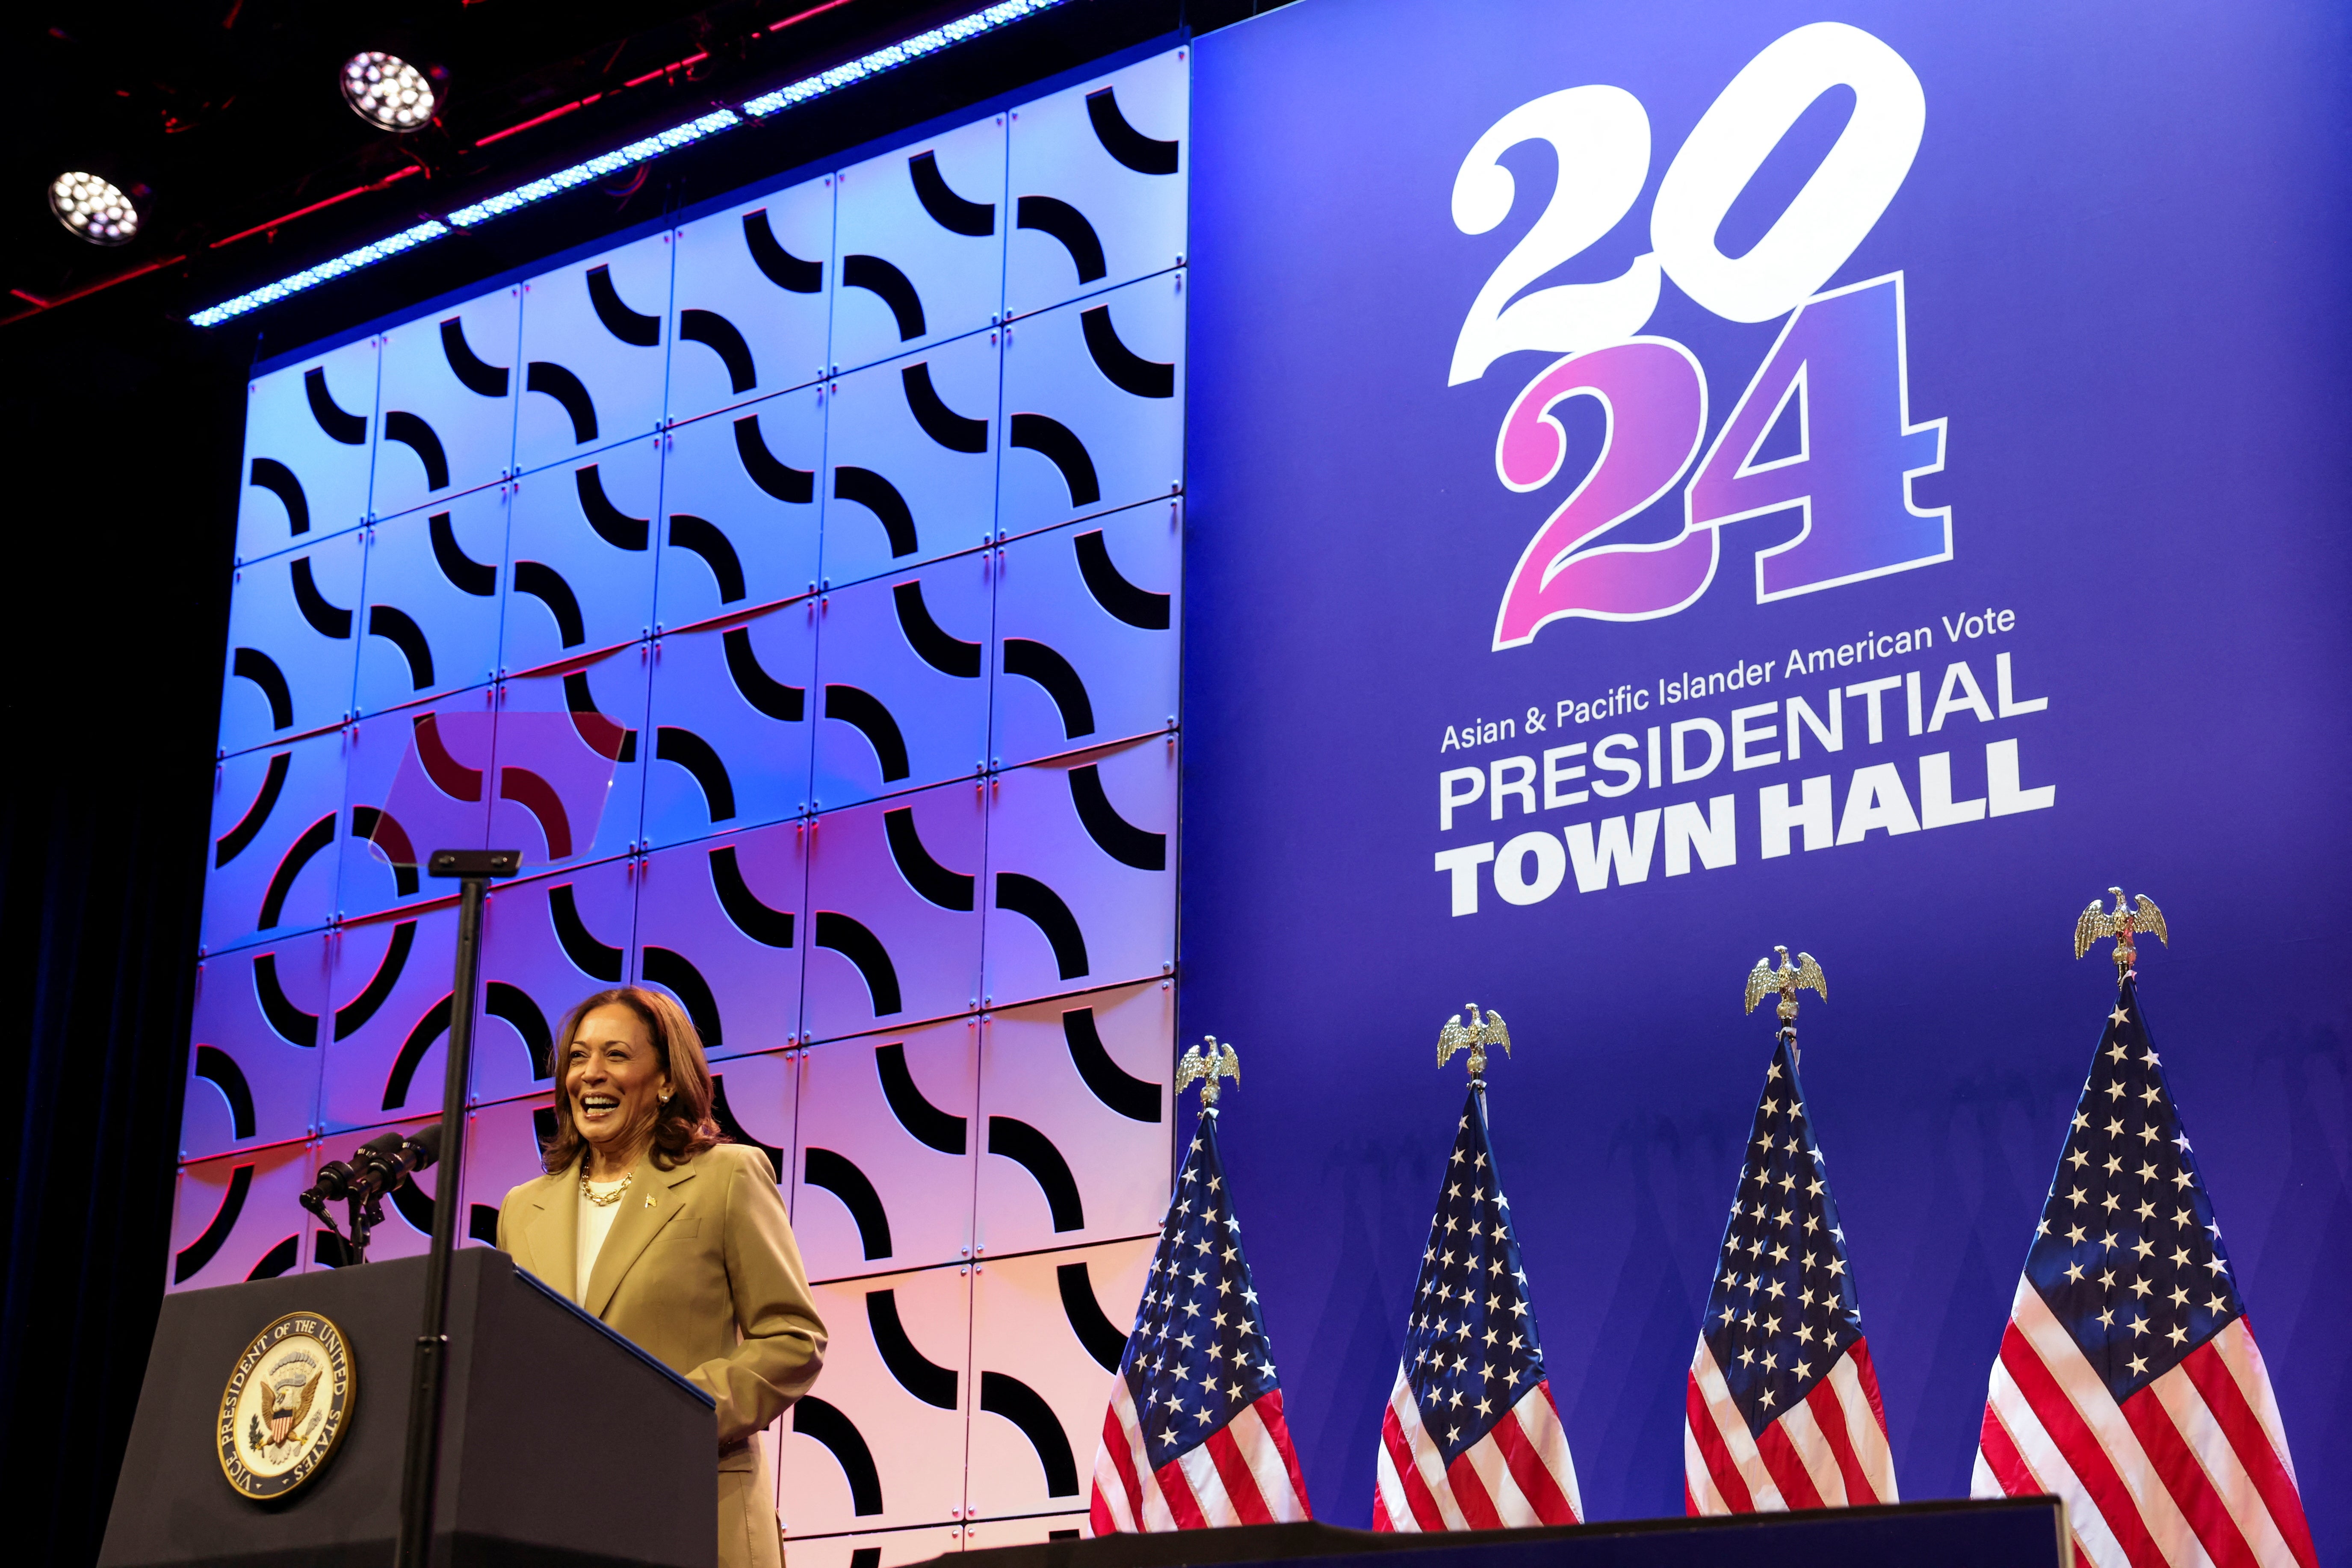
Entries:
{"type": "Polygon", "coordinates": [[[256,1502],[301,1490],[350,1427],[350,1345],[318,1312],[287,1312],[238,1354],[221,1389],[221,1474],[256,1502]]]}

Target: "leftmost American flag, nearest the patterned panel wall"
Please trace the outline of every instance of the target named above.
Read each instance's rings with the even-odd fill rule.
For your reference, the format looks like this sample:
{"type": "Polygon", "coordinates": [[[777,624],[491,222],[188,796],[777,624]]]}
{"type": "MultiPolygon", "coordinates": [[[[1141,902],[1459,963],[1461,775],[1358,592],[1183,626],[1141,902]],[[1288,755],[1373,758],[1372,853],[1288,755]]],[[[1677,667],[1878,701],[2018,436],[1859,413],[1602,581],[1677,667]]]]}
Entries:
{"type": "Polygon", "coordinates": [[[1310,1516],[1214,1110],[1192,1133],[1110,1385],[1089,1514],[1094,1535],[1310,1516]]]}

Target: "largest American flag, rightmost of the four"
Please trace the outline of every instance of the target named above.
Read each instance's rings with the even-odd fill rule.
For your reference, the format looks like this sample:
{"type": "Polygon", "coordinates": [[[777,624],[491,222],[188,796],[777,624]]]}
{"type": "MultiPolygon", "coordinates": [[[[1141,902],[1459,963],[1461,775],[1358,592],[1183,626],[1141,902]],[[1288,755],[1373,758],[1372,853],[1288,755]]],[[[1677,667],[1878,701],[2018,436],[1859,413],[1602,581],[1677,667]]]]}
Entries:
{"type": "Polygon", "coordinates": [[[1978,1497],[2065,1497],[2098,1568],[2314,1568],[2213,1201],[2126,973],[2025,1255],[1978,1497]]]}

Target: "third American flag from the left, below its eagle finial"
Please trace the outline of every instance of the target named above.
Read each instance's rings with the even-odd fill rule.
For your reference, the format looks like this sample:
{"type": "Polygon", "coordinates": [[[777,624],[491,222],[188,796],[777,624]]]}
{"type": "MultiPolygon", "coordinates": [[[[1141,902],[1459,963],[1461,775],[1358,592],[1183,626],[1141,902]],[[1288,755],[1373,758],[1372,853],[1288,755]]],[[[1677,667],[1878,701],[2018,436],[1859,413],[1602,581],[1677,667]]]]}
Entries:
{"type": "Polygon", "coordinates": [[[1691,1354],[1682,1502],[1689,1514],[1896,1502],[1879,1375],[1790,1034],[1764,1072],[1691,1354]]]}

